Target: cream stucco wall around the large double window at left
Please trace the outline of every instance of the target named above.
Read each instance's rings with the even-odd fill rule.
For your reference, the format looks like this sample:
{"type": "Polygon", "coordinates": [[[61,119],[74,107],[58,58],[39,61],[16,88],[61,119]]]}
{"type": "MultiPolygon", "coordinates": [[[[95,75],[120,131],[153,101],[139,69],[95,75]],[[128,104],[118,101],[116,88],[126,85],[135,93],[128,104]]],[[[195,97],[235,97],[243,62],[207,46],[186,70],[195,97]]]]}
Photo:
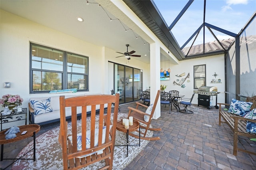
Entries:
{"type": "MultiPolygon", "coordinates": [[[[27,107],[30,97],[56,96],[56,94],[29,94],[30,42],[46,45],[56,49],[70,51],[89,57],[89,91],[80,93],[109,94],[108,61],[121,63],[130,67],[148,71],[148,65],[131,59],[116,59],[115,51],[84,42],[62,32],[52,30],[30,20],[1,10],[1,51],[0,51],[0,96],[19,94],[27,107]],[[126,63],[127,62],[127,63],[126,63]],[[10,82],[10,88],[4,88],[4,82],[10,82]]],[[[61,95],[61,94],[60,94],[61,95]]],[[[65,95],[74,95],[74,93],[65,95]]],[[[1,108],[2,110],[3,108],[1,108]]]]}

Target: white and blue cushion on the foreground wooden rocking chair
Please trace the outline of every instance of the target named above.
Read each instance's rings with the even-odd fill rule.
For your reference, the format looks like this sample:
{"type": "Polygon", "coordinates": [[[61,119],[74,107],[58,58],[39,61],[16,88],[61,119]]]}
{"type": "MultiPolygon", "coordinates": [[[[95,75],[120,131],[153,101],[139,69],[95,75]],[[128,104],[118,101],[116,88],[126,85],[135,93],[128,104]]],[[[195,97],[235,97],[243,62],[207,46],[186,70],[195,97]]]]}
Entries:
{"type": "MultiPolygon", "coordinates": [[[[110,129],[112,128],[112,125],[110,125],[110,129]]],[[[99,129],[95,128],[95,134],[94,134],[94,146],[98,146],[98,138],[99,138],[99,129]]],[[[70,140],[70,143],[73,143],[72,136],[68,136],[68,140],[70,140]]],[[[102,130],[102,143],[104,143],[106,140],[106,126],[103,127],[102,130]]],[[[86,130],[86,149],[90,148],[91,145],[91,130],[86,130]]],[[[77,134],[77,150],[82,150],[82,133],[77,134]]],[[[104,149],[102,149],[104,150],[104,149]]],[[[98,154],[102,152],[102,150],[98,150],[98,154]]],[[[77,158],[84,158],[86,156],[95,154],[96,152],[92,152],[90,154],[86,154],[83,156],[78,156],[77,158]]]]}

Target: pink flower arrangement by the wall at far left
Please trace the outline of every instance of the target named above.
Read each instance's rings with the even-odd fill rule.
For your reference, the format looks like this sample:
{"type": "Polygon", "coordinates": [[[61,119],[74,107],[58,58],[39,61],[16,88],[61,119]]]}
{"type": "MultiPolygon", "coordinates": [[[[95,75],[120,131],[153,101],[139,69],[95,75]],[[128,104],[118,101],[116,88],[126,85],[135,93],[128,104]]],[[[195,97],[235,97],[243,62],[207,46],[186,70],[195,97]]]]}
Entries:
{"type": "Polygon", "coordinates": [[[0,99],[0,105],[3,107],[11,106],[11,105],[21,105],[23,99],[20,95],[3,95],[2,99],[0,99]]]}

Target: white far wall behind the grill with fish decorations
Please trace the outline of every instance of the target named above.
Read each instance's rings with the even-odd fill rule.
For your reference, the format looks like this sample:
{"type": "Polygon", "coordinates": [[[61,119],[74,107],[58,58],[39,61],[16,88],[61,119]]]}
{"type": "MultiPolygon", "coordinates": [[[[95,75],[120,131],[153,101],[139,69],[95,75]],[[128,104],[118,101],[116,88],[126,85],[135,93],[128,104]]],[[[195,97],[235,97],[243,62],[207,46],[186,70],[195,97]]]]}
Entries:
{"type": "MultiPolygon", "coordinates": [[[[211,57],[197,58],[197,59],[189,59],[180,61],[178,65],[170,64],[170,81],[161,81],[161,84],[167,85],[166,90],[169,92],[170,90],[177,90],[180,92],[180,95],[185,95],[187,98],[191,98],[194,93],[194,65],[203,65],[206,64],[206,86],[216,86],[218,87],[218,91],[225,91],[225,67],[224,67],[224,55],[214,55],[211,57]],[[216,79],[221,79],[222,83],[210,83],[212,79],[215,79],[213,76],[214,73],[218,74],[216,79]],[[182,77],[177,77],[176,75],[180,75],[185,73],[186,75],[182,77]],[[177,79],[185,78],[188,73],[190,73],[190,78],[186,79],[183,83],[185,88],[182,88],[179,85],[174,85],[174,81],[177,79]],[[190,80],[190,82],[188,82],[190,80]]],[[[163,69],[168,69],[169,64],[166,61],[166,67],[164,68],[164,62],[162,63],[163,69]]],[[[178,81],[176,81],[178,83],[178,81]]],[[[198,95],[196,94],[193,98],[192,103],[198,103],[198,95]]],[[[212,105],[216,104],[216,98],[212,97],[212,105]]],[[[224,93],[218,94],[218,103],[225,103],[225,95],[224,93]]]]}

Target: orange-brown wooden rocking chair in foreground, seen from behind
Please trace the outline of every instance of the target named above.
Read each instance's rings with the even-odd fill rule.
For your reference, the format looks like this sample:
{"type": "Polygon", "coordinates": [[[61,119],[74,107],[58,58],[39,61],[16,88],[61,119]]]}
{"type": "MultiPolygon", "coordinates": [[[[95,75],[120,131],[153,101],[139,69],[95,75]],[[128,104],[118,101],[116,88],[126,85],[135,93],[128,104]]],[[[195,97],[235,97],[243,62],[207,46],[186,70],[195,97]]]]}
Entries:
{"type": "Polygon", "coordinates": [[[116,95],[88,95],[67,99],[60,96],[59,142],[62,147],[64,170],[78,170],[101,160],[105,160],[105,166],[100,169],[112,169],[118,105],[119,93],[116,93],[116,95]],[[110,119],[112,103],[115,103],[113,123],[110,119]],[[65,116],[66,107],[72,109],[72,127],[69,129],[65,116]],[[77,123],[77,107],[82,107],[81,125],[77,123]],[[90,122],[86,120],[87,107],[91,107],[90,122]],[[98,121],[96,121],[96,113],[99,113],[98,121]],[[88,123],[91,124],[90,128],[86,127],[88,123]],[[79,130],[81,133],[78,133],[79,130]]]}

